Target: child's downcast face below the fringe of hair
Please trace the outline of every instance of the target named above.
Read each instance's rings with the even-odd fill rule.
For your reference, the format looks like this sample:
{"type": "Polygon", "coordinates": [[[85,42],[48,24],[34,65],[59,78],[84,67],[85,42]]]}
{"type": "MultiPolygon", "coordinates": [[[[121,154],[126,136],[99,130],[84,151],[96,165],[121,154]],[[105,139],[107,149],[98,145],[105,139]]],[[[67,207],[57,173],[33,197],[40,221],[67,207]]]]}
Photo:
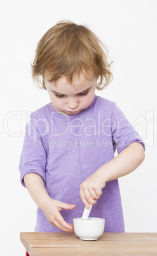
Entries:
{"type": "Polygon", "coordinates": [[[74,77],[71,83],[62,76],[57,82],[48,82],[48,76],[44,77],[44,83],[50,95],[51,105],[63,115],[74,115],[85,110],[92,104],[98,77],[92,73],[88,78],[83,74],[74,77]]]}

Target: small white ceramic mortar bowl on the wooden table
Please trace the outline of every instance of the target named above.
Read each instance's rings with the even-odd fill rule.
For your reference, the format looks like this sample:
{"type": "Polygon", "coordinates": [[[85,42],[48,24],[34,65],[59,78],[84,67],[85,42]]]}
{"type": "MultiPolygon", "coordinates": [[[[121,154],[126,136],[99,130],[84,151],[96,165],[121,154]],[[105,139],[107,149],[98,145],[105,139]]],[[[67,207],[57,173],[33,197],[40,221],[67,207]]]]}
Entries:
{"type": "Polygon", "coordinates": [[[73,219],[74,232],[81,240],[97,240],[104,233],[104,218],[73,219]]]}

